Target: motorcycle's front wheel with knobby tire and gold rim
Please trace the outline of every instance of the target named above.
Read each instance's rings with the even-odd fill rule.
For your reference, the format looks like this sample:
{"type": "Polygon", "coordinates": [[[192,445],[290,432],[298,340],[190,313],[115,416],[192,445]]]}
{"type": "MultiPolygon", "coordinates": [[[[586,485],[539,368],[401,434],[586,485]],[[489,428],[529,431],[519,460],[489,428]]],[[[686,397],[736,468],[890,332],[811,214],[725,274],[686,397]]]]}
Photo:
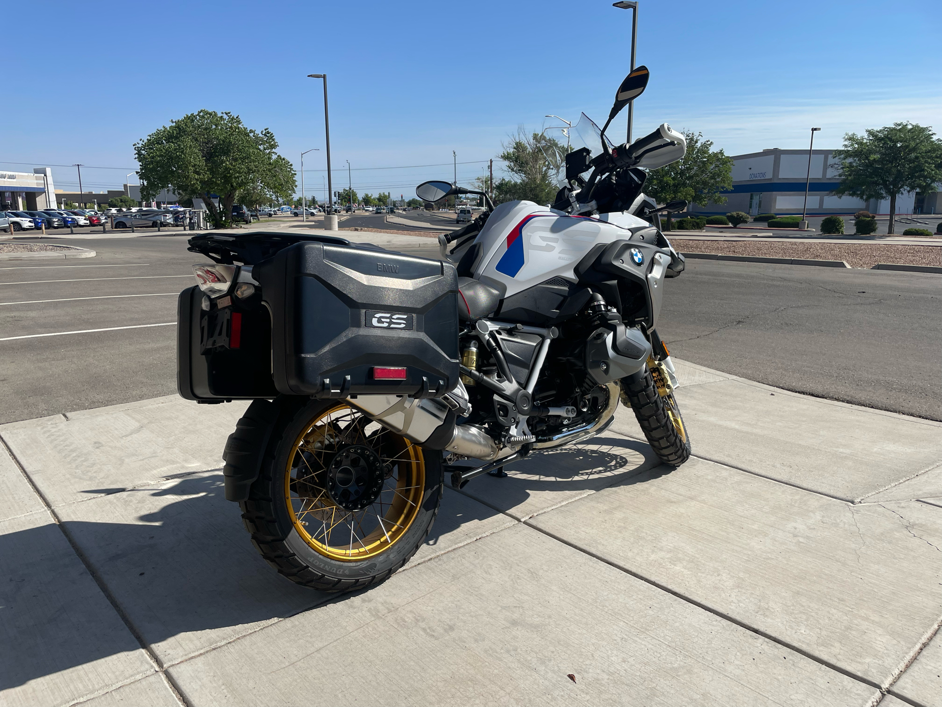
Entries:
{"type": "Polygon", "coordinates": [[[622,379],[622,402],[630,405],[651,449],[664,464],[679,467],[690,458],[690,437],[680,416],[674,391],[665,380],[666,373],[655,364],[622,379]],[[658,383],[655,382],[658,375],[658,383]]]}

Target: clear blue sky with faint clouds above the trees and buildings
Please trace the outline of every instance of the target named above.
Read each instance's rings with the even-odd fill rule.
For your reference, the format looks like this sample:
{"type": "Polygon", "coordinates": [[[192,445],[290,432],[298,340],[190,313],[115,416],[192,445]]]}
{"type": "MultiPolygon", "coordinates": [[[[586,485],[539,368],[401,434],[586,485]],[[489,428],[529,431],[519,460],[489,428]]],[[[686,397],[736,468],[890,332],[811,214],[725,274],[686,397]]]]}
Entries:
{"type": "MultiPolygon", "coordinates": [[[[822,148],[895,121],[942,133],[938,0],[640,4],[651,81],[636,137],[666,122],[735,155],[804,147],[812,125],[822,148]]],[[[602,123],[628,70],[630,16],[608,0],[12,3],[8,38],[22,26],[31,39],[6,53],[0,168],[82,162],[86,190],[120,188],[136,140],[205,107],[271,128],[296,167],[320,148],[304,160],[320,196],[323,94],[306,74],[326,72],[334,189],[349,159],[354,189],[410,198],[420,181],[450,181],[452,150],[467,182],[546,113],[602,123]],[[377,167],[397,169],[365,169],[377,167]]],[[[74,168],[54,176],[77,187],[74,168]]]]}

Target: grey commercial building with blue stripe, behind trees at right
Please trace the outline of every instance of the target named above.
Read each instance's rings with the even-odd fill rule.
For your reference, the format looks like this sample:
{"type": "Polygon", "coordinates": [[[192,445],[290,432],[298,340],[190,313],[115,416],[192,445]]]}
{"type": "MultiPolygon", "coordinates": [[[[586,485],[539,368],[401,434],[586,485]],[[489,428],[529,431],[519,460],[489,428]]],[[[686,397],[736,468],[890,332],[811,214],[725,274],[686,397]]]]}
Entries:
{"type": "MultiPolygon", "coordinates": [[[[873,214],[888,214],[889,200],[865,202],[849,196],[836,196],[840,179],[833,166],[831,150],[814,150],[808,181],[806,212],[809,216],[853,214],[866,209],[873,214]]],[[[801,214],[804,207],[804,183],[808,176],[807,150],[763,150],[733,156],[733,189],[724,191],[725,204],[710,202],[692,205],[690,210],[703,214],[744,211],[751,216],[774,213],[801,214]]],[[[928,194],[907,192],[896,198],[898,214],[935,214],[942,210],[938,190],[928,194]]]]}

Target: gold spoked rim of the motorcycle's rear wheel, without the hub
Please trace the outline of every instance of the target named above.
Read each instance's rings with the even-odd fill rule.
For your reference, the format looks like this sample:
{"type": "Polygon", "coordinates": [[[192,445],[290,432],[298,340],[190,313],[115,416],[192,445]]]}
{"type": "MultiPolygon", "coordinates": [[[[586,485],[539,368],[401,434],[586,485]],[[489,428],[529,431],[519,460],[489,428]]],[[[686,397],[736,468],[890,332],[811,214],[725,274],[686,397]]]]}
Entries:
{"type": "Polygon", "coordinates": [[[318,554],[345,562],[375,557],[395,545],[418,516],[424,488],[421,448],[347,403],[305,425],[284,475],[284,499],[301,539],[318,554]],[[349,444],[369,447],[388,469],[376,500],[356,511],[337,505],[327,490],[328,465],[349,444]]]}

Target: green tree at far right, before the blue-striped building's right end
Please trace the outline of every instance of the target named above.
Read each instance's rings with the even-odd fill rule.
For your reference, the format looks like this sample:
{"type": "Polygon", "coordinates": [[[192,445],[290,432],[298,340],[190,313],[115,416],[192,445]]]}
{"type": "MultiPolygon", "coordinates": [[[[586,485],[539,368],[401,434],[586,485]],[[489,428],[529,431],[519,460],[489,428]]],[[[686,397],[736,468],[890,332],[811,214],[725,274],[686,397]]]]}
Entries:
{"type": "Polygon", "coordinates": [[[835,150],[832,167],[840,171],[835,194],[858,199],[889,199],[889,226],[895,233],[896,197],[905,191],[930,191],[942,181],[942,140],[930,127],[893,123],[867,130],[865,136],[847,133],[844,149],[835,150]]]}

